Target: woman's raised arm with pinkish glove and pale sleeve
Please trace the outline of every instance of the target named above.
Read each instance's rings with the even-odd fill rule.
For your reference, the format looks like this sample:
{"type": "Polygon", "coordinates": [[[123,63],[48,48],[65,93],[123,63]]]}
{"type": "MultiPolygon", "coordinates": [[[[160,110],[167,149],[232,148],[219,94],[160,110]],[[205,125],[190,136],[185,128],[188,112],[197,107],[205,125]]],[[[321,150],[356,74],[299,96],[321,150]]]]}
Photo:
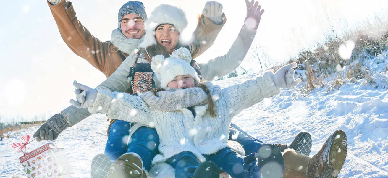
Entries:
{"type": "Polygon", "coordinates": [[[198,64],[204,79],[212,81],[215,76],[221,78],[231,73],[240,66],[248,53],[264,10],[260,10],[261,6],[257,2],[257,4],[251,4],[248,1],[246,3],[247,17],[245,24],[227,54],[198,64]]]}

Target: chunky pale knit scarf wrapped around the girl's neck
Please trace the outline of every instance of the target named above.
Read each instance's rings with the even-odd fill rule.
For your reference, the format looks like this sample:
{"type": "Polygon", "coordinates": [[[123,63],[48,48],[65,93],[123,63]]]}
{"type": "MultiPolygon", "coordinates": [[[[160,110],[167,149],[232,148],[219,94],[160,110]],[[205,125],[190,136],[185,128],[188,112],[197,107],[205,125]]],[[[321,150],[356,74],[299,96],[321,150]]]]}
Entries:
{"type": "MultiPolygon", "coordinates": [[[[208,86],[210,93],[212,93],[213,84],[206,82],[206,86],[208,86]]],[[[145,92],[140,97],[150,107],[161,111],[176,111],[196,105],[206,105],[208,102],[207,94],[202,88],[178,89],[167,87],[165,90],[156,93],[156,95],[152,92],[145,92]]]]}

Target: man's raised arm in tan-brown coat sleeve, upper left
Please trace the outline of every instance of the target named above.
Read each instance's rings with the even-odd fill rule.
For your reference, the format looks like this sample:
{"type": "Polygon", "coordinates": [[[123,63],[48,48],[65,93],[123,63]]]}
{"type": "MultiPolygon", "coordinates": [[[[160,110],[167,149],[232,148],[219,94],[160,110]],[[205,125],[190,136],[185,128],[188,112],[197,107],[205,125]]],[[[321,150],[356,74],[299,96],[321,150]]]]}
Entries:
{"type": "Polygon", "coordinates": [[[86,59],[99,71],[104,70],[106,55],[112,43],[93,36],[76,16],[73,3],[67,0],[48,0],[52,16],[63,41],[78,56],[86,59]]]}

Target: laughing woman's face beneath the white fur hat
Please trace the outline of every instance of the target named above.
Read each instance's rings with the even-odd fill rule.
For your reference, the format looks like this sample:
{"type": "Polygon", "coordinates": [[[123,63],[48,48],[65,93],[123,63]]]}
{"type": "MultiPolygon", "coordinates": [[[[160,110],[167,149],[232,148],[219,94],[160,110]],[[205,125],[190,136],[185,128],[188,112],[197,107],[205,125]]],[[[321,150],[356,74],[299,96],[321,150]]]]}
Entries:
{"type": "Polygon", "coordinates": [[[175,26],[170,24],[159,25],[155,31],[155,38],[166,50],[175,49],[179,40],[179,33],[175,26]]]}

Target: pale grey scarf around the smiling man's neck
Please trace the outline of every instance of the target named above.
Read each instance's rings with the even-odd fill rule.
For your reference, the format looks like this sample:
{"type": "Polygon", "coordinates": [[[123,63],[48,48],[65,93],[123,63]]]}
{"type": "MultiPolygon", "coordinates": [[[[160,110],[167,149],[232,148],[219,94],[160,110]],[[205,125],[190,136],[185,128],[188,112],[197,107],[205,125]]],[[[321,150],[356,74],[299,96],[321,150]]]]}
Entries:
{"type": "Polygon", "coordinates": [[[133,50],[137,49],[139,44],[143,41],[143,38],[132,39],[126,38],[119,29],[114,29],[111,35],[111,42],[114,46],[119,48],[122,52],[126,54],[131,54],[133,50]]]}

